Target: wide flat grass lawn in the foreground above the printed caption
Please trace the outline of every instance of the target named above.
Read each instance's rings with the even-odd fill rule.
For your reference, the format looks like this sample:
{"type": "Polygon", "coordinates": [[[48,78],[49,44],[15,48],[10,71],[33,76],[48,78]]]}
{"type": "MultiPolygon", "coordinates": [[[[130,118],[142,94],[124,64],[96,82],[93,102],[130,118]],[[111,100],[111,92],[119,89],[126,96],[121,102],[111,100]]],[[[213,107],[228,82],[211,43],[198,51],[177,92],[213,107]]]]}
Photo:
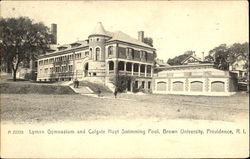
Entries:
{"type": "Polygon", "coordinates": [[[231,97],[112,94],[1,94],[3,122],[46,123],[118,119],[191,119],[235,121],[248,119],[248,94],[231,97]]]}

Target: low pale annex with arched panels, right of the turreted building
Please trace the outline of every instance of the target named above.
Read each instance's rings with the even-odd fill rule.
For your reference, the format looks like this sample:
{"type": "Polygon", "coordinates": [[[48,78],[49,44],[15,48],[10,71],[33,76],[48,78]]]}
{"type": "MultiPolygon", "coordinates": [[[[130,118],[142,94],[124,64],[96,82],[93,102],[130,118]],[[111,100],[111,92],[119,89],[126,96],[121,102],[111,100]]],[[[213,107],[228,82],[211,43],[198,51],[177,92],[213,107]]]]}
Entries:
{"type": "Polygon", "coordinates": [[[153,93],[227,96],[237,91],[237,75],[215,68],[194,55],[182,65],[158,67],[154,74],[153,93]]]}

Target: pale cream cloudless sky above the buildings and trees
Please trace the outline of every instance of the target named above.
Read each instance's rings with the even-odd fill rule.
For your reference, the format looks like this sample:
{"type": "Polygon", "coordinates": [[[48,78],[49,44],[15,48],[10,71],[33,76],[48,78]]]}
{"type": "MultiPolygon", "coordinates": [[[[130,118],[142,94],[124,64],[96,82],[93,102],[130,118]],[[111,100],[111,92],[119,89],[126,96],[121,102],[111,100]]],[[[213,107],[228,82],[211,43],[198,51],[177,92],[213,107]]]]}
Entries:
{"type": "Polygon", "coordinates": [[[164,61],[249,40],[247,1],[2,1],[1,16],[55,23],[59,44],[87,39],[97,22],[134,38],[143,30],[164,61]]]}

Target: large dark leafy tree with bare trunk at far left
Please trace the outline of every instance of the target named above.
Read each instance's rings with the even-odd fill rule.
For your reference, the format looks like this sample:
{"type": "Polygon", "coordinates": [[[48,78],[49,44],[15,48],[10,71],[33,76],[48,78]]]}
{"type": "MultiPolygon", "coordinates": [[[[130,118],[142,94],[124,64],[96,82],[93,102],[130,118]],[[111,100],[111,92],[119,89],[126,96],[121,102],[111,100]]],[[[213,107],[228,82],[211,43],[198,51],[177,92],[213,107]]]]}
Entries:
{"type": "MultiPolygon", "coordinates": [[[[34,60],[45,53],[51,41],[49,29],[27,17],[0,19],[1,61],[10,65],[13,80],[20,63],[34,60]]],[[[1,66],[3,63],[1,63],[1,66]]]]}

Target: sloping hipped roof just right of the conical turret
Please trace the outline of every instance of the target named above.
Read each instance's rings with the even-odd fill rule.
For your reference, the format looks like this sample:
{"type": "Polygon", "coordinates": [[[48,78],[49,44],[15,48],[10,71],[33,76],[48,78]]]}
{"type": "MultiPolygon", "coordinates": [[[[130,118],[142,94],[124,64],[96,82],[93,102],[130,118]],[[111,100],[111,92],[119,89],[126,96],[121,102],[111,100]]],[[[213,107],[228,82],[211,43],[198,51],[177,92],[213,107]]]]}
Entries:
{"type": "Polygon", "coordinates": [[[131,36],[121,32],[121,31],[116,31],[116,32],[108,32],[110,36],[112,36],[112,38],[110,40],[108,40],[108,42],[110,41],[123,41],[123,42],[127,42],[127,43],[131,43],[131,44],[136,44],[136,45],[140,45],[140,46],[144,46],[144,47],[148,47],[148,48],[153,48],[135,38],[132,38],[131,36]]]}

